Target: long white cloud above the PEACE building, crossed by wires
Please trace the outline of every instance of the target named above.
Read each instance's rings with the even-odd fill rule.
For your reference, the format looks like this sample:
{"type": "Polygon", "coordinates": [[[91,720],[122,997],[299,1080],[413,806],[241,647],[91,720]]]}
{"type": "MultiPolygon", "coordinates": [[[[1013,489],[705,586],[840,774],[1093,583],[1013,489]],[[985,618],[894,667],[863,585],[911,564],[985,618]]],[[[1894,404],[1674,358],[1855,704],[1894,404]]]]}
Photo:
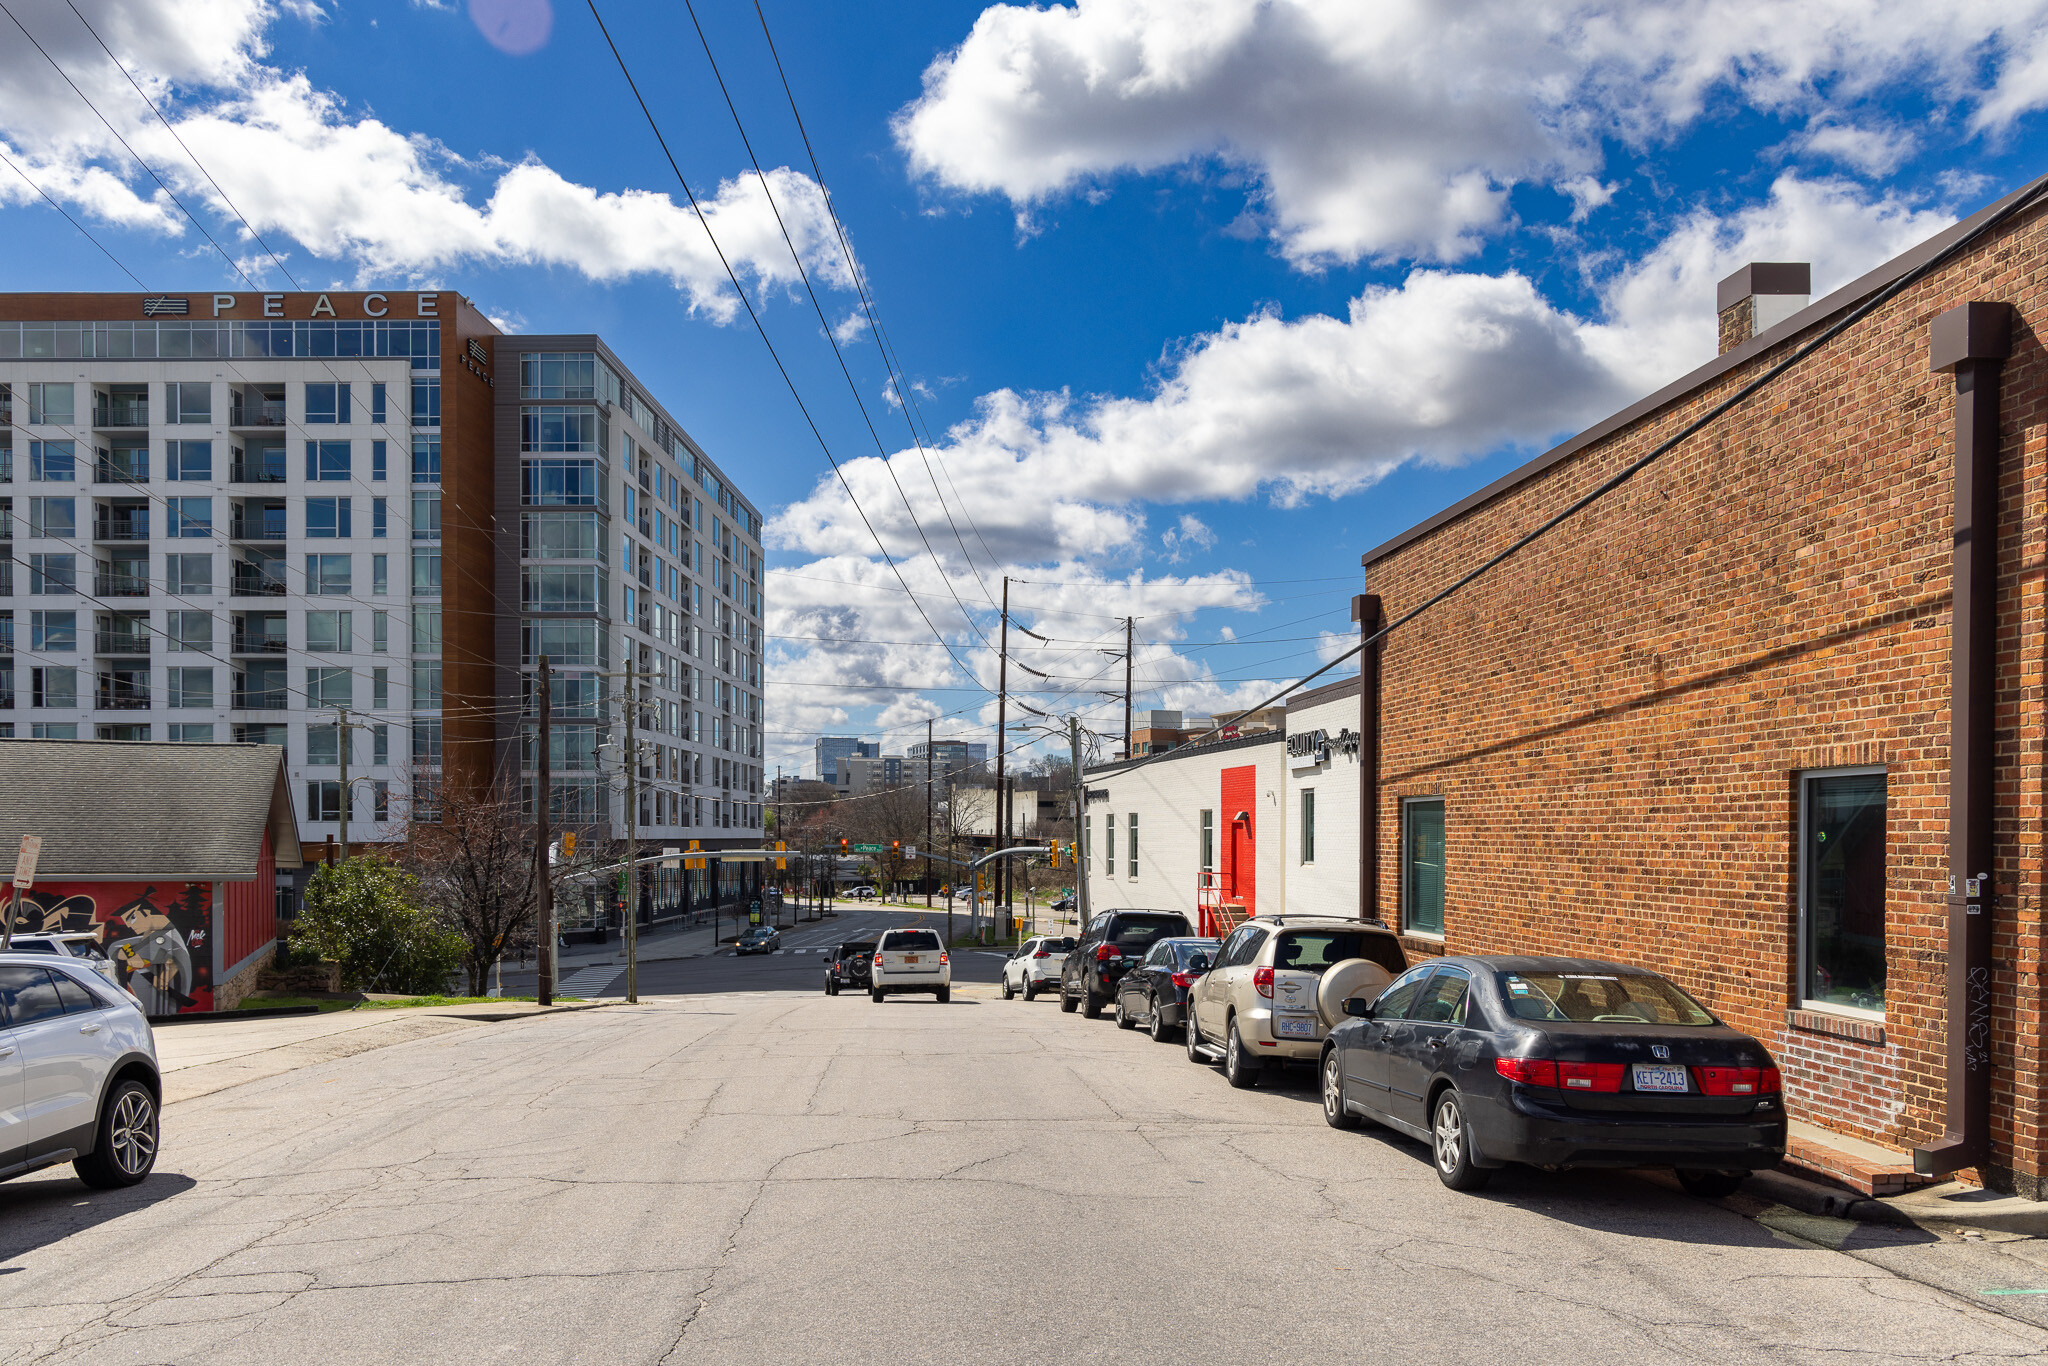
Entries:
{"type": "MultiPolygon", "coordinates": [[[[82,8],[272,246],[297,242],[322,260],[350,264],[358,281],[430,279],[465,264],[563,266],[594,281],[659,276],[709,317],[723,322],[737,311],[725,268],[688,205],[649,190],[575,184],[539,160],[504,168],[475,203],[469,182],[481,164],[430,137],[354,117],[303,74],[264,66],[264,33],[276,8],[262,0],[102,0],[82,8]]],[[[211,225],[217,238],[246,240],[215,188],[61,0],[35,0],[16,12],[178,195],[219,215],[211,225]]],[[[20,43],[0,45],[0,139],[43,188],[98,219],[188,231],[41,55],[20,43]]],[[[741,279],[764,291],[799,285],[770,190],[811,276],[850,289],[823,195],[788,168],[770,170],[766,190],[743,174],[702,197],[705,219],[741,279]]],[[[29,190],[0,184],[0,197],[23,203],[29,190]]]]}

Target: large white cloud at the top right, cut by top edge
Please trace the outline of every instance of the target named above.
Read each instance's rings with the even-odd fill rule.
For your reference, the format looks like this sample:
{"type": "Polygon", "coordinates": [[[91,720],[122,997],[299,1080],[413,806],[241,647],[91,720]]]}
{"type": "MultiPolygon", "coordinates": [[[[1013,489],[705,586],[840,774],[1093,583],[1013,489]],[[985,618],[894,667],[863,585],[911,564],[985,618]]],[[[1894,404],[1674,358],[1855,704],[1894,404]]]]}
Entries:
{"type": "MultiPolygon", "coordinates": [[[[997,4],[895,133],[922,176],[1020,215],[1104,176],[1217,162],[1255,178],[1300,266],[1458,260],[1507,221],[1511,186],[1571,195],[1604,141],[1642,147],[1729,100],[1823,115],[1913,88],[2009,127],[2048,102],[2044,16],[2044,0],[997,4]]],[[[1815,154],[1866,170],[1907,147],[1858,123],[1815,154]]]]}

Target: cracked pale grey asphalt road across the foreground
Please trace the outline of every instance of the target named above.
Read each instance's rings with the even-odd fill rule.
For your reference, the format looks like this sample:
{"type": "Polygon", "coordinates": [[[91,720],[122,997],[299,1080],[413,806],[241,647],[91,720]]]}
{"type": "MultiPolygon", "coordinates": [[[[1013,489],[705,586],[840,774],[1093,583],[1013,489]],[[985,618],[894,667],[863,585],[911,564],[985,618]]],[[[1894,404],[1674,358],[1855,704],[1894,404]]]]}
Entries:
{"type": "Polygon", "coordinates": [[[1421,1145],[1327,1128],[1309,1075],[1233,1092],[1051,999],[877,1006],[815,965],[698,963],[791,985],[340,1057],[174,1104],[135,1192],[0,1186],[0,1362],[2048,1352],[2001,1313],[2048,1296],[1982,1294],[2048,1288],[2032,1253],[1636,1173],[1460,1196],[1421,1145]]]}

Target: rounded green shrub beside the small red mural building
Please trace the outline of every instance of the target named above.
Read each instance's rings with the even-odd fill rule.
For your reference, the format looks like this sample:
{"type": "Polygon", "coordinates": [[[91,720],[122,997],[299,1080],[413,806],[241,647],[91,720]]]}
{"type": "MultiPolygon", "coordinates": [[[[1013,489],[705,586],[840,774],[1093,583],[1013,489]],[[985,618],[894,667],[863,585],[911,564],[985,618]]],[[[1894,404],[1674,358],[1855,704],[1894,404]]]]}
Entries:
{"type": "Polygon", "coordinates": [[[463,938],[420,905],[420,881],[397,864],[344,858],[313,872],[291,924],[295,952],[338,958],[350,991],[444,991],[463,938]]]}

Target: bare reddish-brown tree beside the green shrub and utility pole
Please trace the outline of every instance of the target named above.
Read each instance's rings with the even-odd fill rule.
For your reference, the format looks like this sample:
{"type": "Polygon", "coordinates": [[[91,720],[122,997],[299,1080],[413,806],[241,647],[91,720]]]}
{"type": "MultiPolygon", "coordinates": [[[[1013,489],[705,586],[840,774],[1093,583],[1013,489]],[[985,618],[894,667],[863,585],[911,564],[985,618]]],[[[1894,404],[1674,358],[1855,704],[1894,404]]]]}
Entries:
{"type": "Polygon", "coordinates": [[[532,821],[518,780],[489,784],[442,782],[438,819],[416,819],[406,866],[420,879],[426,903],[463,936],[469,995],[483,995],[492,965],[506,946],[530,938],[535,895],[532,821]]]}

